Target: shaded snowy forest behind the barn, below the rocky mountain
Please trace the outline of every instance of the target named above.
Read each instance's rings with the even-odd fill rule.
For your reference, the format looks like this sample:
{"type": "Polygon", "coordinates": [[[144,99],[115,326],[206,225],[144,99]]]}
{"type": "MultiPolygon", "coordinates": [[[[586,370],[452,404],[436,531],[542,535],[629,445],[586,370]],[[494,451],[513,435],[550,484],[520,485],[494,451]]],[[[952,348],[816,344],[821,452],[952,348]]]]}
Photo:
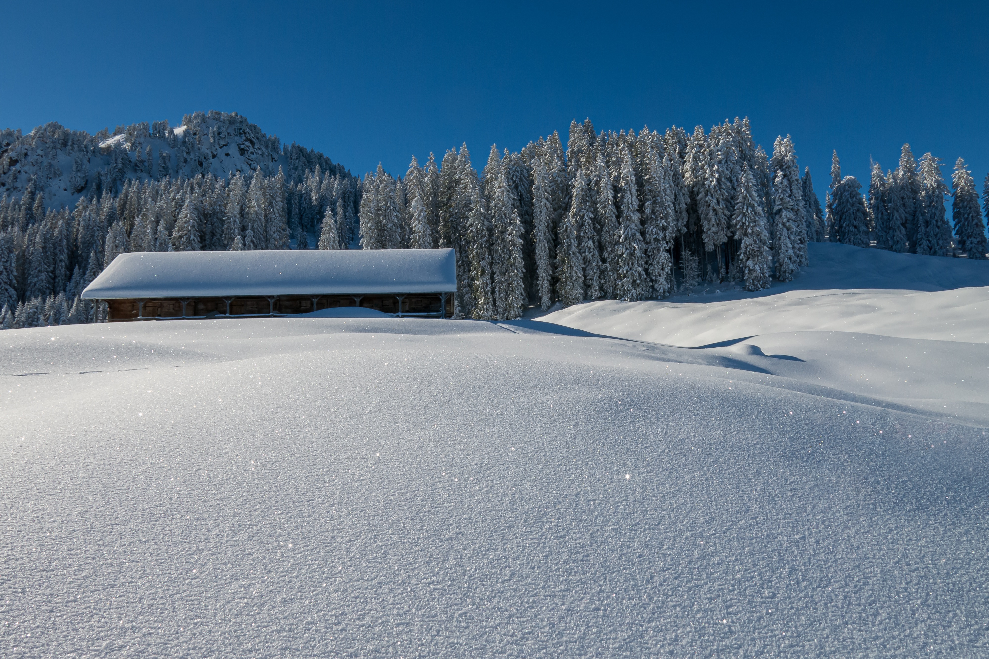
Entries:
{"type": "Polygon", "coordinates": [[[318,165],[302,178],[287,182],[281,168],[265,176],[259,167],[228,179],[125,179],[119,194],[104,188],[58,210],[45,210],[31,181],[19,199],[0,198],[0,327],[99,320],[79,294],[124,252],[288,249],[320,232],[334,236],[323,248],[346,248],[360,181],[318,165]]]}

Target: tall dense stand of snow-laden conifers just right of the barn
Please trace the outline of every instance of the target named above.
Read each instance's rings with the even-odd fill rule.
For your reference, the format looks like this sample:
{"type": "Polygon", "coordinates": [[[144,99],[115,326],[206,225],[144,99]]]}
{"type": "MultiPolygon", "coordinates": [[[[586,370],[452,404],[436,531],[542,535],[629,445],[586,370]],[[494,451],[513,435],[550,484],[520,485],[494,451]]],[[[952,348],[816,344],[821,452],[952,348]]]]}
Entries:
{"type": "Polygon", "coordinates": [[[364,178],[364,248],[452,247],[457,313],[518,318],[526,305],[662,298],[699,280],[793,278],[826,227],[790,138],[772,156],[748,119],[705,134],[597,133],[571,124],[520,152],[492,147],[479,174],[466,144],[405,177],[364,178]],[[678,277],[674,275],[677,272],[678,277]]]}

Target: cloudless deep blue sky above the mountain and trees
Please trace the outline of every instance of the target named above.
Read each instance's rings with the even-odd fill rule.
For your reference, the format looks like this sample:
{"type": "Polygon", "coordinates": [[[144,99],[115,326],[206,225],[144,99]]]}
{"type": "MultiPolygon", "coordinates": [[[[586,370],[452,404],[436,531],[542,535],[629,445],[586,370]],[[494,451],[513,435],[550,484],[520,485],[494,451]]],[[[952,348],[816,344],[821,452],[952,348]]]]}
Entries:
{"type": "Polygon", "coordinates": [[[0,126],[95,132],[235,111],[355,173],[466,141],[476,165],[590,117],[791,134],[822,197],[957,156],[989,169],[986,3],[7,3],[0,126]]]}

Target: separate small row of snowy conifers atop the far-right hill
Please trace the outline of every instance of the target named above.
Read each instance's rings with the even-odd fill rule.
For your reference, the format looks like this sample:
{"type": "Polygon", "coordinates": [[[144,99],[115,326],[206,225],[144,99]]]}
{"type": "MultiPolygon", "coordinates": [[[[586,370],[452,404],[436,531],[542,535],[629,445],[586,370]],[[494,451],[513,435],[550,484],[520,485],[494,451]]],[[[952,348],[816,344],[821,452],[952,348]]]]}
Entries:
{"type": "MultiPolygon", "coordinates": [[[[835,151],[825,213],[832,238],[859,247],[871,244],[914,254],[947,256],[960,250],[969,258],[985,259],[989,245],[975,180],[959,157],[949,191],[941,166],[941,160],[931,153],[925,153],[918,162],[910,144],[904,144],[895,170],[883,173],[878,162],[872,163],[868,191],[862,194],[854,176],[842,177],[835,151]],[[948,193],[952,197],[953,231],[944,208],[948,193]]],[[[983,196],[989,218],[989,175],[983,196]]]]}

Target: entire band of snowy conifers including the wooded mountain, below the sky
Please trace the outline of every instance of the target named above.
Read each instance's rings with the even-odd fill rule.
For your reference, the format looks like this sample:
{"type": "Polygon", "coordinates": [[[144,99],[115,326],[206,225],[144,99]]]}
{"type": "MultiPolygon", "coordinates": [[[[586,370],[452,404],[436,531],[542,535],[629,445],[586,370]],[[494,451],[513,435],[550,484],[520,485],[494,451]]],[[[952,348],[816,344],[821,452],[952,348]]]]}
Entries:
{"type": "Polygon", "coordinates": [[[905,144],[896,170],[873,164],[863,193],[836,153],[822,209],[789,136],[770,155],[738,118],[691,134],[574,122],[566,148],[557,133],[519,152],[493,146],[480,173],[465,144],[363,180],[235,113],[95,136],[5,131],[0,327],[101,320],[79,294],[128,251],[452,247],[457,315],[475,319],[701,282],[758,291],[793,279],[811,241],[985,258],[974,180],[959,158],[949,191],[940,166],[905,144]]]}

